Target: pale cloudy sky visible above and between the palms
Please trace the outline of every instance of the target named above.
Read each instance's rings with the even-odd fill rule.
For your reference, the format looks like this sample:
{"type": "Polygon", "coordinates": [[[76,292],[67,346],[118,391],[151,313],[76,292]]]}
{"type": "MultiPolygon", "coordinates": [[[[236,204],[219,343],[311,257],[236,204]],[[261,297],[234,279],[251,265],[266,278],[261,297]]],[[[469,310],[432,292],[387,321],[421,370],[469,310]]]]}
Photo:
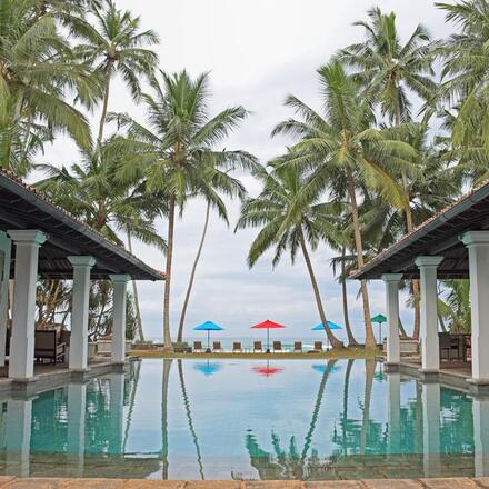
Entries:
{"type": "MultiPolygon", "coordinates": [[[[248,120],[224,143],[227,149],[243,149],[262,163],[280,154],[286,139],[270,139],[272,128],[291,116],[283,107],[287,94],[293,93],[320,110],[316,70],[328,62],[340,48],[362,39],[362,30],[353,27],[366,18],[373,4],[382,11],[396,11],[402,39],[422,22],[435,38],[446,37],[451,27],[430,0],[117,0],[121,9],[141,16],[143,28],[156,30],[161,44],[156,47],[160,66],[167,72],[187,69],[191,76],[210,72],[212,99],[210,113],[241,104],[252,112],[248,120]]],[[[136,107],[121,80],[116,80],[109,100],[110,111],[127,111],[144,120],[142,107],[136,107]]],[[[93,128],[100,108],[93,114],[93,128]]],[[[110,133],[110,128],[107,130],[110,133]]],[[[58,138],[48,148],[44,160],[57,164],[77,161],[78,151],[66,138],[58,138]]],[[[249,193],[256,196],[257,183],[242,176],[249,193]]],[[[263,256],[252,270],[246,258],[256,230],[234,233],[240,203],[228,201],[229,228],[214,214],[197,271],[197,279],[187,316],[186,333],[193,326],[213,320],[227,328],[230,337],[250,336],[251,325],[271,319],[287,329],[282,337],[311,337],[310,328],[319,322],[309,276],[301,257],[290,263],[283,256],[272,270],[270,256],[263,256]]],[[[206,204],[194,200],[176,224],[171,325],[176,336],[190,268],[203,226],[206,204]]],[[[164,221],[158,230],[167,234],[164,221]]],[[[142,243],[134,253],[157,269],[164,268],[161,252],[142,243]]],[[[330,259],[335,253],[326,246],[312,255],[328,318],[343,325],[341,288],[335,280],[330,259]]],[[[139,282],[143,328],[147,337],[162,337],[162,283],[139,282]]],[[[359,338],[363,336],[358,283],[348,283],[350,321],[359,338]]],[[[385,313],[382,283],[369,285],[372,316],[385,313]]],[[[412,326],[412,311],[401,297],[401,317],[412,326]]],[[[377,331],[377,329],[376,329],[377,331]]],[[[340,337],[345,337],[342,333],[340,337]]]]}

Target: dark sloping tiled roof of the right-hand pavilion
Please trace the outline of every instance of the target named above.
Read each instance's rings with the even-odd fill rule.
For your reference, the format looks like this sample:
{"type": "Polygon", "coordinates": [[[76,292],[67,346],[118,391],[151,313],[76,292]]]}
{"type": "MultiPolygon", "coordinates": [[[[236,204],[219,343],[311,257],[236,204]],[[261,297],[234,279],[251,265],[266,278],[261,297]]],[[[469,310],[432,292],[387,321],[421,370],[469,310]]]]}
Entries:
{"type": "Polygon", "coordinates": [[[379,279],[383,273],[403,273],[418,278],[418,256],[442,256],[439,278],[468,278],[466,246],[460,241],[467,231],[489,229],[489,180],[435,213],[411,232],[382,250],[365,267],[353,271],[351,279],[379,279]]]}

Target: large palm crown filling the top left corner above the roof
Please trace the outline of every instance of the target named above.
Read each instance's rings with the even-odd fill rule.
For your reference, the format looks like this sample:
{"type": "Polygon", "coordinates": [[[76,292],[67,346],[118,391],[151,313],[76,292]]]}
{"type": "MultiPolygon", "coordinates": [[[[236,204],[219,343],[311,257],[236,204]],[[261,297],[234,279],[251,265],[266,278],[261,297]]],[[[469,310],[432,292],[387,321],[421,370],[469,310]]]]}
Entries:
{"type": "Polygon", "coordinates": [[[23,176],[29,157],[56,132],[90,148],[84,116],[67,99],[90,107],[99,93],[97,76],[71,58],[67,40],[38,0],[4,0],[0,8],[0,161],[23,176]]]}

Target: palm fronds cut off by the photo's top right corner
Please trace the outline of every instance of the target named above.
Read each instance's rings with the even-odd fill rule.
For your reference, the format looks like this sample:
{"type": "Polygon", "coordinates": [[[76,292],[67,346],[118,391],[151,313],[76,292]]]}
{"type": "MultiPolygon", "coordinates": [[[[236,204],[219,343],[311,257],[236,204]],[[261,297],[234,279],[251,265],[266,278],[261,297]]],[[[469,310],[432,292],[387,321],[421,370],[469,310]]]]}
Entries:
{"type": "Polygon", "coordinates": [[[452,129],[456,146],[478,136],[487,151],[488,137],[488,84],[489,4],[486,0],[465,0],[456,3],[437,3],[446,12],[446,20],[460,32],[452,33],[442,42],[439,53],[443,58],[440,101],[457,106],[452,129]]]}

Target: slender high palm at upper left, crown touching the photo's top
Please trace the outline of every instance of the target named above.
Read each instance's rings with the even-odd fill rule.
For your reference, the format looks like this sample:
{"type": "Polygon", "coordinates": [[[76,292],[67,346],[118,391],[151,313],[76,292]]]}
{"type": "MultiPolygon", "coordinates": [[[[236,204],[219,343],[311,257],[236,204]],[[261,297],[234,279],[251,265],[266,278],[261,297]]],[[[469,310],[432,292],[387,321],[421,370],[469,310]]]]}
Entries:
{"type": "Polygon", "coordinates": [[[150,77],[158,63],[156,52],[144,47],[157,44],[159,37],[152,30],[141,31],[140,18],[132,17],[128,10],[118,10],[112,0],[107,0],[103,7],[92,4],[91,13],[96,23],[92,24],[90,20],[77,22],[72,32],[82,42],[76,47],[74,56],[93,66],[104,78],[98,132],[100,143],[103,139],[112,78],[120,73],[131,96],[139,99],[140,77],[150,77]]]}

